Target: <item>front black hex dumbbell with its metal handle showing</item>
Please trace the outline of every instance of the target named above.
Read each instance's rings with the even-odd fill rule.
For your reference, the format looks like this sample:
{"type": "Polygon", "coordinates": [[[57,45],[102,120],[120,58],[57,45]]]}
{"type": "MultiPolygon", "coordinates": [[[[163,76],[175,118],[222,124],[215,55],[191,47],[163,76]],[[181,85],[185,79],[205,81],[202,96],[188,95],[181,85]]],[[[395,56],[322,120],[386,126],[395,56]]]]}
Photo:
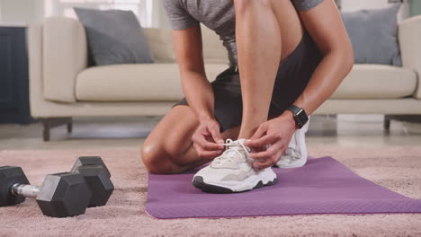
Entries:
{"type": "Polygon", "coordinates": [[[91,190],[79,173],[49,174],[38,187],[30,185],[21,167],[0,167],[0,206],[36,198],[42,214],[67,217],[85,214],[91,197],[91,190]]]}

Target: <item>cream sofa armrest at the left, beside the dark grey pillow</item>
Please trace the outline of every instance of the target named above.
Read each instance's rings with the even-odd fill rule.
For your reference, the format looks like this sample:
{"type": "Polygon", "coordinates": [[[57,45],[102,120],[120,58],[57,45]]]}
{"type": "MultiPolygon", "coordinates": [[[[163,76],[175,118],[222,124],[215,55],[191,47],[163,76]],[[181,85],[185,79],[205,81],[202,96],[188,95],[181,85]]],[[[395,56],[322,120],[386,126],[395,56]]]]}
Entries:
{"type": "Polygon", "coordinates": [[[87,66],[84,26],[75,19],[50,17],[45,19],[42,36],[44,98],[75,102],[76,75],[87,66]]]}

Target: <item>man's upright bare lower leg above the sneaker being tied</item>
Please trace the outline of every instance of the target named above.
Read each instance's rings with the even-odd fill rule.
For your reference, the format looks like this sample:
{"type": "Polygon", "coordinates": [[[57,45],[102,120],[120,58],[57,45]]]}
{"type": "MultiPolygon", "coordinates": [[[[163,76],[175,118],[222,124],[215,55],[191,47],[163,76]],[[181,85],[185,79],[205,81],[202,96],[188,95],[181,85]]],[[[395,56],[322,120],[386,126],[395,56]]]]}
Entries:
{"type": "Polygon", "coordinates": [[[300,43],[302,27],[291,1],[234,0],[234,4],[243,96],[238,138],[249,138],[267,120],[278,66],[300,43]]]}

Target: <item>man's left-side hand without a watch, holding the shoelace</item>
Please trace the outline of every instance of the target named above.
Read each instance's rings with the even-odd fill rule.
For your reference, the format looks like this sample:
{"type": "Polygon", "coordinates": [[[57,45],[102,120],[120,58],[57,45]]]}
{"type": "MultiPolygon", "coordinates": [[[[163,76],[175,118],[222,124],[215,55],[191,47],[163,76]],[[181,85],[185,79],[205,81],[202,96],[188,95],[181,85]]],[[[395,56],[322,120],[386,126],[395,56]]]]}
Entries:
{"type": "Polygon", "coordinates": [[[219,123],[215,119],[201,120],[192,136],[193,147],[202,158],[213,159],[224,151],[224,140],[219,133],[219,123]]]}

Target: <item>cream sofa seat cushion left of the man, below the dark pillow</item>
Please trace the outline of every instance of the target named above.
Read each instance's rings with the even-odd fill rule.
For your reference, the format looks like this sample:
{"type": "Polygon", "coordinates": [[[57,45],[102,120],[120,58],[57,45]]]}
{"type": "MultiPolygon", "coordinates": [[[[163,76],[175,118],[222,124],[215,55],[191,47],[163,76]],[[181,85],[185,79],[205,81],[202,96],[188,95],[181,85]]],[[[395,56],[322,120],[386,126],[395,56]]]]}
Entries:
{"type": "MultiPolygon", "coordinates": [[[[207,64],[208,79],[227,67],[207,64]]],[[[183,96],[176,64],[94,66],[76,77],[78,101],[178,101],[183,96]]]]}

